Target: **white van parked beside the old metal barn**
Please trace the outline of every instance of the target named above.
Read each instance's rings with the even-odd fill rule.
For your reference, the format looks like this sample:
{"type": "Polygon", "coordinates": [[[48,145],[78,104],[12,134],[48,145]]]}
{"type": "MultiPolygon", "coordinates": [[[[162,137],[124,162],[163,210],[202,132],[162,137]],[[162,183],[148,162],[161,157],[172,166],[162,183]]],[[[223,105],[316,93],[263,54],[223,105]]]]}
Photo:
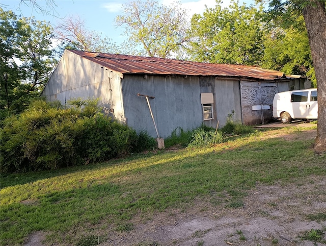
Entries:
{"type": "Polygon", "coordinates": [[[273,100],[273,117],[284,124],[292,119],[317,119],[317,89],[291,90],[276,93],[273,100]]]}

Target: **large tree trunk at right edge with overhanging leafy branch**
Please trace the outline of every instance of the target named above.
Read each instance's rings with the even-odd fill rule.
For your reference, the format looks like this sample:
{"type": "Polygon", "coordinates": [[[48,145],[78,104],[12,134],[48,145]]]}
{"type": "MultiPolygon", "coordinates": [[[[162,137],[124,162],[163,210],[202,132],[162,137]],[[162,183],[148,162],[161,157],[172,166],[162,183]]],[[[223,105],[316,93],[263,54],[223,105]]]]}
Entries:
{"type": "Polygon", "coordinates": [[[289,23],[298,14],[305,19],[318,89],[316,152],[326,152],[326,0],[270,0],[269,13],[289,23]]]}

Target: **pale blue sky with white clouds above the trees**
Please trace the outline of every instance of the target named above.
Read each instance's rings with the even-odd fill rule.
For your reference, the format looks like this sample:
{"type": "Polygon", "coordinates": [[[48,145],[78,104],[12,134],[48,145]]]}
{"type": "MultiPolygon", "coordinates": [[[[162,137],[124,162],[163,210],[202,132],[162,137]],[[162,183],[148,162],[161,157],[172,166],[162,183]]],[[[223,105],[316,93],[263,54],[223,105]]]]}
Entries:
{"type": "MultiPolygon", "coordinates": [[[[26,6],[20,0],[1,0],[1,7],[4,10],[12,10],[17,15],[24,17],[35,16],[37,20],[49,21],[52,26],[62,22],[67,16],[78,15],[85,21],[85,26],[90,31],[100,32],[102,36],[110,37],[113,42],[120,44],[126,39],[122,36],[123,29],[116,28],[114,19],[121,12],[122,4],[127,4],[129,0],[53,0],[56,4],[53,16],[43,14],[38,9],[26,6]]],[[[170,5],[174,0],[159,0],[160,4],[170,5]]],[[[182,8],[188,11],[189,17],[193,14],[202,14],[205,5],[209,8],[215,6],[215,0],[181,0],[182,8]]],[[[244,0],[247,5],[254,4],[254,0],[244,0]]],[[[37,0],[37,3],[46,8],[45,0],[37,0]]],[[[230,1],[223,1],[223,6],[227,7],[230,1]]]]}

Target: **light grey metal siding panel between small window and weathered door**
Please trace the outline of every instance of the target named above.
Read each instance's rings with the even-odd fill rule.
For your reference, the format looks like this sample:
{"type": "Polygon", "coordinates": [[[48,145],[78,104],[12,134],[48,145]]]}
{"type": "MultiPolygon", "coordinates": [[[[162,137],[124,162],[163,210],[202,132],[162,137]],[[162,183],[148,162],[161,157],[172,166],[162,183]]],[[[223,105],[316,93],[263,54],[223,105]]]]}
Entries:
{"type": "Polygon", "coordinates": [[[227,117],[232,114],[235,122],[242,122],[241,102],[240,102],[240,83],[237,80],[215,79],[215,101],[216,116],[219,127],[225,126],[227,117]]]}

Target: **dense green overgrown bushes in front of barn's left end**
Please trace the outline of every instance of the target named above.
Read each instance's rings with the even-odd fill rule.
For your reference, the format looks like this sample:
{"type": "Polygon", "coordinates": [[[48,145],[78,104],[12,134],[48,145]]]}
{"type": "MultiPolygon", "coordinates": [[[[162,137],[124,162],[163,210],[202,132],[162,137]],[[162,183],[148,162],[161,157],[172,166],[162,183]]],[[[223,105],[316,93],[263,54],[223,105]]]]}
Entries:
{"type": "Polygon", "coordinates": [[[57,169],[94,163],[151,149],[146,132],[113,121],[97,101],[74,100],[70,108],[42,100],[6,118],[1,130],[2,172],[57,169]]]}

